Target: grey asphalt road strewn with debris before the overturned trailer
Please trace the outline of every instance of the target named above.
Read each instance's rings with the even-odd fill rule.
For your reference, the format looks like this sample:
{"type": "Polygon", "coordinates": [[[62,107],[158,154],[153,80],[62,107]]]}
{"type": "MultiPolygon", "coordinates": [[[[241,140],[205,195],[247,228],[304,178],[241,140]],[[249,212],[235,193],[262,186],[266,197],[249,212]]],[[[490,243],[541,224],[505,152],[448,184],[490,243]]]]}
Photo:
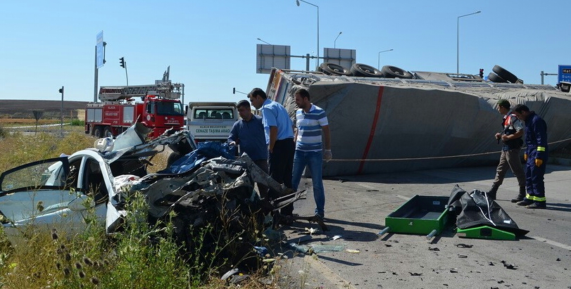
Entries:
{"type": "MultiPolygon", "coordinates": [[[[468,192],[487,190],[495,169],[435,169],[325,180],[329,231],[307,221],[280,229],[291,239],[308,236],[306,228],[318,229],[299,246],[310,246],[316,253],[284,246],[289,259],[282,263],[282,288],[571,288],[568,166],[547,167],[547,210],[510,203],[518,188],[508,173],[496,202],[520,229],[529,230],[519,240],[460,238],[452,227],[432,240],[401,233],[379,236],[384,218],[414,195],[448,197],[456,184],[468,192]]],[[[308,198],[294,204],[295,212],[313,215],[311,180],[302,179],[300,188],[304,183],[308,198]]]]}

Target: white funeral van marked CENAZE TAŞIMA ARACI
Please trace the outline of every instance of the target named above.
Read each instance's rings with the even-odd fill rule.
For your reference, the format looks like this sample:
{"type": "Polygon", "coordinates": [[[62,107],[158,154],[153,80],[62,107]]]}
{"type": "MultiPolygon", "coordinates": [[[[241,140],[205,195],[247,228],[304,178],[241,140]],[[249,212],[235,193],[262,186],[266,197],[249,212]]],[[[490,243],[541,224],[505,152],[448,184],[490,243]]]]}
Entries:
{"type": "Polygon", "coordinates": [[[202,141],[225,142],[232,125],[238,120],[236,103],[198,103],[188,106],[187,129],[196,143],[202,141]]]}

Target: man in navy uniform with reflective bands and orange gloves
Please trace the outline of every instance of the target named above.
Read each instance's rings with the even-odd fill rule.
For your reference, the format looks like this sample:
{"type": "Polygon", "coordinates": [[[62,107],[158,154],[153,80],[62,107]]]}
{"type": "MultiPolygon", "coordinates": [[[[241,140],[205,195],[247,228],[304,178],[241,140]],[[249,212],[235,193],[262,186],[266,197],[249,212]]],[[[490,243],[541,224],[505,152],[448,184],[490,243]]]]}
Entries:
{"type": "Polygon", "coordinates": [[[547,163],[547,124],[527,105],[518,104],[513,113],[525,121],[525,186],[527,194],[517,205],[529,209],[545,209],[544,174],[547,163]]]}

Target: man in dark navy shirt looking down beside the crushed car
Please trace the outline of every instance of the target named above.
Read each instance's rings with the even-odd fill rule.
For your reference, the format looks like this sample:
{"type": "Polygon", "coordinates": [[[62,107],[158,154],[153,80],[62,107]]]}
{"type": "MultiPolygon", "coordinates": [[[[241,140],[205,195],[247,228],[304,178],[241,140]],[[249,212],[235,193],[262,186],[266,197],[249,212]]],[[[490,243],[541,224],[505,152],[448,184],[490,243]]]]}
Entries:
{"type": "MultiPolygon", "coordinates": [[[[250,103],[239,101],[236,105],[240,120],[234,122],[228,142],[230,146],[239,146],[240,153],[246,153],[264,172],[268,173],[268,147],[265,145],[262,117],[253,115],[250,103]]],[[[268,197],[268,187],[258,183],[261,198],[268,197]]]]}

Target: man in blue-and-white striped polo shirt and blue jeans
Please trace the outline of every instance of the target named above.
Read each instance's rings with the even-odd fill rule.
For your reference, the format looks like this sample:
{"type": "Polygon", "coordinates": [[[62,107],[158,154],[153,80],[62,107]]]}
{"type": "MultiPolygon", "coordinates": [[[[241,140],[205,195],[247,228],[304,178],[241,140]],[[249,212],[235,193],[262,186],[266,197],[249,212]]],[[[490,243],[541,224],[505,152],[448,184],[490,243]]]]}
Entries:
{"type": "Polygon", "coordinates": [[[331,136],[325,110],[310,102],[309,92],[298,89],[295,93],[296,105],[296,153],[291,186],[297,191],[303,169],[308,167],[313,183],[315,216],[325,217],[325,191],[323,189],[322,158],[332,159],[331,136]],[[325,147],[325,152],[323,148],[325,147]]]}

